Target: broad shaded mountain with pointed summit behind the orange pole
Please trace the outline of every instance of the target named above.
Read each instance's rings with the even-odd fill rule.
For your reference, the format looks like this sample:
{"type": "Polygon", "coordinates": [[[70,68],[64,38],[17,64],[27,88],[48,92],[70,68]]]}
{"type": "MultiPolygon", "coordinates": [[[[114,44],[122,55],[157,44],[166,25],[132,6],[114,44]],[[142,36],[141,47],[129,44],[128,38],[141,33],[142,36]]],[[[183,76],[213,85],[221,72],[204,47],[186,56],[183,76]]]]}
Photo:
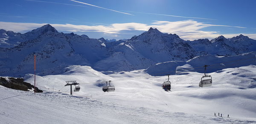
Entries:
{"type": "Polygon", "coordinates": [[[38,72],[63,65],[92,66],[91,63],[106,56],[103,42],[72,33],[58,33],[50,25],[23,35],[29,40],[14,48],[0,48],[0,75],[23,76],[31,73],[34,54],[37,56],[38,72]]]}

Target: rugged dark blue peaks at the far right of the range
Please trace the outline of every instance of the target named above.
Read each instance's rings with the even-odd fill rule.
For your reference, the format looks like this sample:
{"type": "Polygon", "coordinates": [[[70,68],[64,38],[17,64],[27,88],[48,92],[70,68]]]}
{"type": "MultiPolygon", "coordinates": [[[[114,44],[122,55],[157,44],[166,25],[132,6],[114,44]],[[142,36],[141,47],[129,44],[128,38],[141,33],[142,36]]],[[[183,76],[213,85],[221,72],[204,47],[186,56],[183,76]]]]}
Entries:
{"type": "Polygon", "coordinates": [[[202,54],[233,56],[256,51],[256,40],[242,34],[229,39],[219,36],[211,41],[209,39],[198,39],[186,42],[202,54]]]}

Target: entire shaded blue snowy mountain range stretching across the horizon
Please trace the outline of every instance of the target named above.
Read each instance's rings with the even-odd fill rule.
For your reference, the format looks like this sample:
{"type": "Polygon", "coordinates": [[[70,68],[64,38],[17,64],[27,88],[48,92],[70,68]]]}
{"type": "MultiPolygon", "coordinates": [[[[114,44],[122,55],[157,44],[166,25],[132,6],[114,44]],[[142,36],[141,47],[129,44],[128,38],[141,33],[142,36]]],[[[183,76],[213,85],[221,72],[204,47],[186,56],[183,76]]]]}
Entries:
{"type": "MultiPolygon", "coordinates": [[[[34,54],[37,72],[52,70],[44,73],[47,75],[58,74],[52,68],[67,65],[88,65],[98,71],[130,71],[161,62],[185,62],[208,54],[225,57],[252,51],[256,51],[256,40],[243,35],[186,41],[176,34],[163,34],[150,28],[139,36],[116,41],[59,33],[48,24],[25,34],[0,30],[0,76],[33,73],[34,54]]],[[[198,64],[205,65],[200,61],[198,64]]]]}

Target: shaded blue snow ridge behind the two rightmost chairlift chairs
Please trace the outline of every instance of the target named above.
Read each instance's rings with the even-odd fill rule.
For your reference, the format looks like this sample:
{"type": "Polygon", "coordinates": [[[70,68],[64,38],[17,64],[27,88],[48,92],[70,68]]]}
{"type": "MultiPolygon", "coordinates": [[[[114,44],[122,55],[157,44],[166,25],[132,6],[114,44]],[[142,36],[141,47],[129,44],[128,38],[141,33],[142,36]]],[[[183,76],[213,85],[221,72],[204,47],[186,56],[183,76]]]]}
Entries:
{"type": "Polygon", "coordinates": [[[204,73],[204,65],[207,73],[215,72],[224,68],[236,68],[247,65],[256,65],[256,52],[239,54],[236,56],[197,56],[188,61],[161,62],[150,66],[145,70],[150,75],[163,76],[167,74],[186,74],[186,72],[196,71],[204,73]]]}

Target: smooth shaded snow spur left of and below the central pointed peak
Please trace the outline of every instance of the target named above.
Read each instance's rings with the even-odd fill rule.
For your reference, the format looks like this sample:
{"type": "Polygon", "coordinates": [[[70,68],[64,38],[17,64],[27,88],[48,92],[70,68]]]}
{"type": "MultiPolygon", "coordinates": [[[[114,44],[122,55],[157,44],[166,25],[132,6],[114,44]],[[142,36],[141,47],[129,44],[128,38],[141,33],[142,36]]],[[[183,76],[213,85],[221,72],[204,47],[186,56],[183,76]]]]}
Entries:
{"type": "Polygon", "coordinates": [[[151,59],[138,53],[130,42],[121,42],[119,45],[108,48],[108,58],[102,59],[94,65],[99,71],[130,71],[148,68],[154,64],[151,59]]]}

